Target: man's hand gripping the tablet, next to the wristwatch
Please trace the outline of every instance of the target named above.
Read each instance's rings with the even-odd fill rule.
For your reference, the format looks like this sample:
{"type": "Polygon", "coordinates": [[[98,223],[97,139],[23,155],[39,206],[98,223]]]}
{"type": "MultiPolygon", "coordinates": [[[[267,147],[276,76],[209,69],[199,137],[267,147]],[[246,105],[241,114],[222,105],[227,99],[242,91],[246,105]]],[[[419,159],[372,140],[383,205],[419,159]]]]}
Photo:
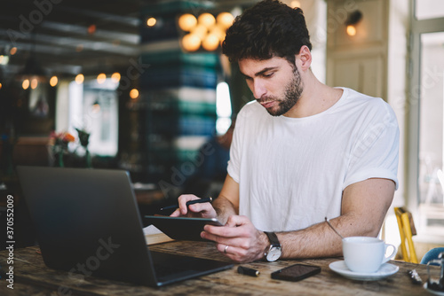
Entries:
{"type": "Polygon", "coordinates": [[[263,258],[269,245],[266,234],[257,230],[246,216],[232,215],[225,226],[205,225],[203,230],[202,238],[218,243],[218,251],[237,262],[263,258]]]}

